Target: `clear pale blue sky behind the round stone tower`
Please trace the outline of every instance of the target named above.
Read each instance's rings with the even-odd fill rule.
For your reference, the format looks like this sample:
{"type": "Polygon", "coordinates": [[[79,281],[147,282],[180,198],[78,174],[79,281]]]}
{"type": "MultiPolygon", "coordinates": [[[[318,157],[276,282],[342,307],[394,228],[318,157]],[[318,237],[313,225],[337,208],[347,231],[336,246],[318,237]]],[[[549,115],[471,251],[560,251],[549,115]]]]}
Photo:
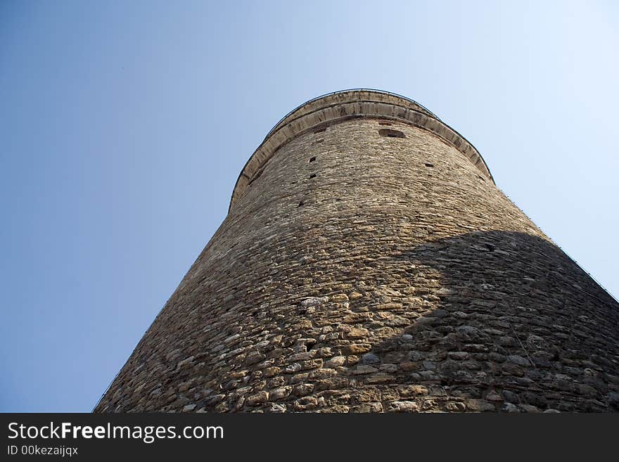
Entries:
{"type": "Polygon", "coordinates": [[[408,96],[619,295],[608,1],[0,1],[0,411],[90,411],[321,94],[408,96]]]}

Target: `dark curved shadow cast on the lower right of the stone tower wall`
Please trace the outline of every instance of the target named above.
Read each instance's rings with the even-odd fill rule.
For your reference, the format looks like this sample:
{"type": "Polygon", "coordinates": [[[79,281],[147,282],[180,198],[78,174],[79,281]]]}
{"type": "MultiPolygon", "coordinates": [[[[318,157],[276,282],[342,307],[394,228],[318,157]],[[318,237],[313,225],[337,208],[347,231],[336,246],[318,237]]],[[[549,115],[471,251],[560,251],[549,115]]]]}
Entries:
{"type": "MultiPolygon", "coordinates": [[[[618,410],[619,304],[556,245],[487,231],[395,259],[414,287],[415,306],[403,309],[419,317],[402,326],[397,307],[383,314],[385,325],[400,321],[397,335],[344,374],[383,410],[618,410]]],[[[351,404],[373,410],[355,394],[351,404]]]]}

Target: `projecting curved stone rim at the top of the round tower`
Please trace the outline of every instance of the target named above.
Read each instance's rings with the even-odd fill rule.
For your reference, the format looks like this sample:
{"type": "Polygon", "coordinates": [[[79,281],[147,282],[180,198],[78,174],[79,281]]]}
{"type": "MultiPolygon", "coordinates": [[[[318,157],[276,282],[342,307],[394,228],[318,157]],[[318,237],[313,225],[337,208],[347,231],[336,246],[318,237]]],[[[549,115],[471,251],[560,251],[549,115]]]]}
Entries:
{"type": "Polygon", "coordinates": [[[494,183],[490,169],[468,140],[416,101],[390,91],[347,89],[312,98],[284,115],[269,131],[241,170],[230,200],[232,209],[245,189],[262,173],[262,167],[281,146],[299,134],[354,117],[395,120],[432,131],[457,148],[494,183]]]}

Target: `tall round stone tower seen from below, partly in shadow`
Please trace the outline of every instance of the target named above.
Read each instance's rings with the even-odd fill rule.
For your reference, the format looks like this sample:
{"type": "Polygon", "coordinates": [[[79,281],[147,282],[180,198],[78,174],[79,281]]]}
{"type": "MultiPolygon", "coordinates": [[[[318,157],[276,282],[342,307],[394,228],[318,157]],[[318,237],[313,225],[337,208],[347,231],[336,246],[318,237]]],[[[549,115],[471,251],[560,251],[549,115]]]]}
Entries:
{"type": "Polygon", "coordinates": [[[95,411],[616,411],[619,304],[426,108],[279,122],[95,411]]]}

